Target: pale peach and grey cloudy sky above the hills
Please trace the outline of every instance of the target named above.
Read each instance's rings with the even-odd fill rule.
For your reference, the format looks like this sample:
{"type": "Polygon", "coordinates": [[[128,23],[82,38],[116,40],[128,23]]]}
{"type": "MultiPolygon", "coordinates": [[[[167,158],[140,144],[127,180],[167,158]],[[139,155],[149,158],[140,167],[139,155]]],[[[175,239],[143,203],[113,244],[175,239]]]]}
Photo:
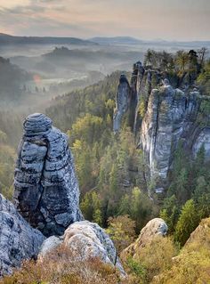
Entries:
{"type": "Polygon", "coordinates": [[[15,36],[210,40],[210,0],[0,0],[15,36]]]}

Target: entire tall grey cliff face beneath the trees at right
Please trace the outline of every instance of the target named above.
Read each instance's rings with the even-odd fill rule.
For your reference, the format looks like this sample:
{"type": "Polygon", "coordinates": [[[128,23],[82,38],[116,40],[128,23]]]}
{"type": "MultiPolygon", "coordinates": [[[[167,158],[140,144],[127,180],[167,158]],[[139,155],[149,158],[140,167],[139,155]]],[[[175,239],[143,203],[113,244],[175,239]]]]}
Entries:
{"type": "MultiPolygon", "coordinates": [[[[206,158],[210,158],[210,124],[206,121],[206,126],[201,126],[198,122],[200,102],[206,98],[195,88],[189,74],[178,77],[159,69],[144,68],[137,62],[133,65],[129,86],[130,100],[125,110],[117,109],[121,119],[127,117],[143,150],[149,168],[148,181],[153,180],[157,187],[166,186],[179,142],[192,157],[204,145],[206,158]]],[[[121,96],[118,87],[117,97],[121,96]]],[[[114,117],[114,126],[115,123],[114,117]]]]}

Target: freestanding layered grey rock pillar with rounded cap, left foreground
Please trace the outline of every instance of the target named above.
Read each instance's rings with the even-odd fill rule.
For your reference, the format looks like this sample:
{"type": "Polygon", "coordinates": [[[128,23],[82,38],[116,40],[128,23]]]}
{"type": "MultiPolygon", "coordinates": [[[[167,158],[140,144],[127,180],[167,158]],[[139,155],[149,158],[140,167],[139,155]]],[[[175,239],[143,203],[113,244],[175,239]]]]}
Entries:
{"type": "Polygon", "coordinates": [[[66,134],[43,114],[24,122],[14,174],[14,203],[45,236],[61,235],[82,219],[74,161],[66,134]]]}

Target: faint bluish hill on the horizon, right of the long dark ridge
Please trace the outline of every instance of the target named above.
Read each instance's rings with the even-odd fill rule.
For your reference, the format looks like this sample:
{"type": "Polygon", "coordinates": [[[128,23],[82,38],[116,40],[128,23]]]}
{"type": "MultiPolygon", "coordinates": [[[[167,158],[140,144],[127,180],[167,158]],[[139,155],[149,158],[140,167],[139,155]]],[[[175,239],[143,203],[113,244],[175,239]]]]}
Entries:
{"type": "Polygon", "coordinates": [[[142,42],[134,37],[93,37],[89,41],[99,45],[139,45],[142,42]]]}

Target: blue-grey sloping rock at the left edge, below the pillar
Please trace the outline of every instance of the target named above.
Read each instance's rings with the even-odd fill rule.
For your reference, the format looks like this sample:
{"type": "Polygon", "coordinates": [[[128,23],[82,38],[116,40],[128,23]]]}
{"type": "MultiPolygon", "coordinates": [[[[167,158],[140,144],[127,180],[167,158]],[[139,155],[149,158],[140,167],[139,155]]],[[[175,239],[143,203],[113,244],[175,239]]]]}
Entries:
{"type": "Polygon", "coordinates": [[[44,239],[0,194],[0,276],[12,273],[22,260],[36,258],[44,239]]]}

